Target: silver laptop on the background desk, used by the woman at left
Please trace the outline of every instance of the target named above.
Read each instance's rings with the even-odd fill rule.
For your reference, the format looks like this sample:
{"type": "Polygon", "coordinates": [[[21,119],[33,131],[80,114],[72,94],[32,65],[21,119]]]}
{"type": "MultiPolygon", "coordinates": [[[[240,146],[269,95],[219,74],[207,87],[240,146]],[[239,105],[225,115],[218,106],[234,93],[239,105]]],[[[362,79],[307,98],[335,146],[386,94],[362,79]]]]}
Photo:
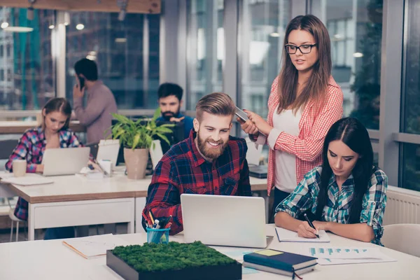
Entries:
{"type": "Polygon", "coordinates": [[[87,166],[90,148],[51,148],[46,149],[42,164],[43,176],[70,175],[80,172],[87,166]]]}

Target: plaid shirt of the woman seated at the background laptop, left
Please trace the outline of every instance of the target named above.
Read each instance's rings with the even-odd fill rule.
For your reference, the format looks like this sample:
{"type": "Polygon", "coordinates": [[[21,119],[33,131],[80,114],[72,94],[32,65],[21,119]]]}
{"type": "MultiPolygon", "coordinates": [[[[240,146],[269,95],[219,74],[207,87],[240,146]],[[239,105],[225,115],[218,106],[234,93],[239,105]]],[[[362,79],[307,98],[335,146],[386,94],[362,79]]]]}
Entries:
{"type": "MultiPolygon", "coordinates": [[[[41,164],[46,145],[47,141],[41,127],[27,130],[20,137],[18,146],[13,149],[8,162],[6,162],[6,170],[13,171],[13,160],[26,160],[27,172],[36,172],[36,165],[41,164]]],[[[61,130],[59,132],[59,146],[60,148],[71,148],[83,145],[71,130],[61,130]]],[[[19,197],[18,204],[16,204],[15,216],[25,221],[28,218],[28,202],[23,200],[22,197],[19,197]]]]}

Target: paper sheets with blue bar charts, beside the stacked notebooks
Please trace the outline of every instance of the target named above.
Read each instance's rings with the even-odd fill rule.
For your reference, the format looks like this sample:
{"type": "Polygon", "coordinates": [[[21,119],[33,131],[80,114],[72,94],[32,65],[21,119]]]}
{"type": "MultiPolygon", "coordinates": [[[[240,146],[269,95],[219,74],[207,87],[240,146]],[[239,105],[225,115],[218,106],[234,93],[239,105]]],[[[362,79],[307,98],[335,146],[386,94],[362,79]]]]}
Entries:
{"type": "Polygon", "coordinates": [[[305,248],[302,254],[318,258],[319,265],[396,261],[381,253],[379,248],[310,247],[305,248]]]}

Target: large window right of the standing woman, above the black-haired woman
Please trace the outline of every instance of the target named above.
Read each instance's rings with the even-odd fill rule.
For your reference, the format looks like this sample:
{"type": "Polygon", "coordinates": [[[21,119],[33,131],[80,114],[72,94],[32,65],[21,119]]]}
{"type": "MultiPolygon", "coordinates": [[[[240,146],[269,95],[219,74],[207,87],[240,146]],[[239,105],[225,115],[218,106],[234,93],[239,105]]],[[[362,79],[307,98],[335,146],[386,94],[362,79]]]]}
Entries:
{"type": "Polygon", "coordinates": [[[332,76],[344,93],[344,116],[379,130],[383,0],[313,0],[328,28],[332,76]]]}

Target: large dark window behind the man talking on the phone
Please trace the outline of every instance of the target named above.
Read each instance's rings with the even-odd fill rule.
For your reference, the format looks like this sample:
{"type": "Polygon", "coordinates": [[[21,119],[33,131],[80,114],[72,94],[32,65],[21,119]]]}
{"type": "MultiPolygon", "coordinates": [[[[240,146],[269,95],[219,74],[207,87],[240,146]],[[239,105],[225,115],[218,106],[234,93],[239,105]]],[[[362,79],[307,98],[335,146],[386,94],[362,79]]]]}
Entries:
{"type": "Polygon", "coordinates": [[[66,97],[73,99],[73,65],[97,62],[99,79],[116,97],[118,109],[154,109],[159,86],[160,15],[70,13],[66,27],[66,97]]]}

